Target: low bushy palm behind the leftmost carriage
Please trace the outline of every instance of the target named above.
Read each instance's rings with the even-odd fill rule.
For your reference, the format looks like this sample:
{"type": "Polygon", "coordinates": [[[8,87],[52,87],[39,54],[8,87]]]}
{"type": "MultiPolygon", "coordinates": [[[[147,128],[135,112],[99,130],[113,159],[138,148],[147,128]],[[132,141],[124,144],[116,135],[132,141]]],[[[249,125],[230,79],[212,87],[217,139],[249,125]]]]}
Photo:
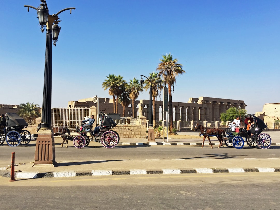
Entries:
{"type": "Polygon", "coordinates": [[[20,110],[18,111],[18,115],[26,121],[32,120],[33,117],[40,117],[41,114],[37,106],[39,106],[39,104],[29,102],[26,102],[26,104],[22,103],[19,105],[20,110]]]}

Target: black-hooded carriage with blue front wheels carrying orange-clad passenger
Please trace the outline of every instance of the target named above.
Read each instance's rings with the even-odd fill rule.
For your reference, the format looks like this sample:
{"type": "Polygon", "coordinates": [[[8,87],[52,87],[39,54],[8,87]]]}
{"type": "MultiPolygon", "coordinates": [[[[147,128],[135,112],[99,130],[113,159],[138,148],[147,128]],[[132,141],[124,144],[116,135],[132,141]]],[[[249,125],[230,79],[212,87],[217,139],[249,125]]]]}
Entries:
{"type": "Polygon", "coordinates": [[[267,130],[267,125],[260,118],[254,115],[246,115],[244,125],[239,129],[239,132],[232,132],[231,128],[225,129],[225,133],[227,133],[225,144],[228,147],[241,149],[245,141],[250,147],[268,149],[271,146],[269,134],[262,133],[263,130],[267,130]],[[248,126],[249,124],[251,124],[251,127],[248,126]],[[247,127],[250,127],[250,129],[247,130],[247,127]]]}

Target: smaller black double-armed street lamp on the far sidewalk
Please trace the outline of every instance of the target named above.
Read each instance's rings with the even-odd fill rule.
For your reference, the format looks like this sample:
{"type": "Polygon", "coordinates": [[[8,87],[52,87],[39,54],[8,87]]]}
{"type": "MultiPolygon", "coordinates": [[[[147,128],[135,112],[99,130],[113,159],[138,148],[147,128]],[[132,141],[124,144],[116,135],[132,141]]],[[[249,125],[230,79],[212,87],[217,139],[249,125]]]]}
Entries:
{"type": "MultiPolygon", "coordinates": [[[[144,85],[144,80],[143,77],[145,77],[148,81],[150,80],[150,124],[149,124],[149,128],[148,128],[148,141],[155,141],[155,133],[154,133],[154,127],[153,127],[153,92],[152,92],[152,82],[155,80],[155,78],[160,77],[160,75],[155,76],[154,78],[152,78],[152,76],[150,76],[150,79],[144,75],[141,75],[141,80],[140,80],[140,85],[141,87],[143,87],[144,85]]],[[[157,83],[161,84],[161,79],[158,78],[157,83]]]]}

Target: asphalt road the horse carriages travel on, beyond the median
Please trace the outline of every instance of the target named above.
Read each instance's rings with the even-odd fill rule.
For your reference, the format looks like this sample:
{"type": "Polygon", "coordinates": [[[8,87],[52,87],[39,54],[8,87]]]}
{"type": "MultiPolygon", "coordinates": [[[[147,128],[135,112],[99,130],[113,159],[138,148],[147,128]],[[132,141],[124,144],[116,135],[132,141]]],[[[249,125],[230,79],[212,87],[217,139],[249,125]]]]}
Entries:
{"type": "MultiPolygon", "coordinates": [[[[71,145],[72,142],[69,142],[71,145]]],[[[85,161],[85,160],[145,160],[145,159],[201,159],[201,158],[280,158],[280,146],[271,146],[267,150],[244,147],[242,149],[228,148],[227,146],[213,149],[205,146],[148,146],[129,145],[116,146],[107,149],[98,143],[91,142],[87,148],[77,149],[74,146],[60,148],[55,144],[56,160],[85,161]]],[[[11,163],[11,152],[15,152],[16,162],[34,161],[35,142],[27,146],[10,147],[0,146],[0,167],[11,163]]]]}

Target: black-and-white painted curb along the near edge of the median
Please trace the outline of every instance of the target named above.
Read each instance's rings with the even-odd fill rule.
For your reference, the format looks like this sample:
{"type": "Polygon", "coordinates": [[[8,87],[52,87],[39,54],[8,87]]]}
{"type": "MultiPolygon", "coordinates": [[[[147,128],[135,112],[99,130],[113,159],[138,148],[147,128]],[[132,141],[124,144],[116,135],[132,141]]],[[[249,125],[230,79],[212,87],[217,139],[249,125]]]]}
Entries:
{"type": "MultiPolygon", "coordinates": [[[[18,179],[59,178],[74,176],[111,176],[139,174],[213,174],[213,173],[248,173],[248,172],[280,172],[280,168],[193,168],[193,169],[131,169],[131,170],[92,170],[92,171],[60,171],[60,172],[15,172],[18,179]]],[[[10,178],[11,172],[0,170],[0,176],[10,178]]]]}

